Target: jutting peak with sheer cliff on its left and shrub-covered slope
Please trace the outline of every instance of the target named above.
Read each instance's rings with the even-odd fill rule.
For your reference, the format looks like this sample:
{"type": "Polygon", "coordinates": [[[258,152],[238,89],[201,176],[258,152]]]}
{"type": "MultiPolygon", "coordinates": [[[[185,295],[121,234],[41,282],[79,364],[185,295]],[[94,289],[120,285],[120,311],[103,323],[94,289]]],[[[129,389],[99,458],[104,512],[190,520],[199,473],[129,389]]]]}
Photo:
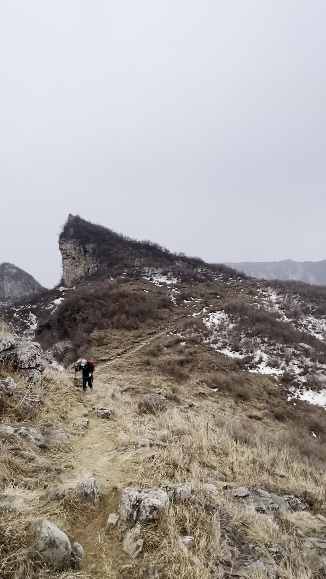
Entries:
{"type": "Polygon", "coordinates": [[[200,258],[172,254],[151,241],[136,241],[69,215],[59,237],[63,284],[72,287],[92,276],[164,274],[172,280],[213,280],[220,274],[236,277],[230,267],[204,263],[200,258]]]}

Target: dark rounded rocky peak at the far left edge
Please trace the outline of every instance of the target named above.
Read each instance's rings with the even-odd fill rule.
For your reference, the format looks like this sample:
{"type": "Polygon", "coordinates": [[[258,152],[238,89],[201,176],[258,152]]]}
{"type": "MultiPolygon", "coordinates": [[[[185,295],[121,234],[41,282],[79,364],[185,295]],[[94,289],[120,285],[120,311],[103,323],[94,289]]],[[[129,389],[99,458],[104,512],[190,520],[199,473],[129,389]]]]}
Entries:
{"type": "Polygon", "coordinates": [[[42,290],[42,285],[29,273],[13,263],[1,263],[0,302],[12,302],[39,290],[42,290]]]}

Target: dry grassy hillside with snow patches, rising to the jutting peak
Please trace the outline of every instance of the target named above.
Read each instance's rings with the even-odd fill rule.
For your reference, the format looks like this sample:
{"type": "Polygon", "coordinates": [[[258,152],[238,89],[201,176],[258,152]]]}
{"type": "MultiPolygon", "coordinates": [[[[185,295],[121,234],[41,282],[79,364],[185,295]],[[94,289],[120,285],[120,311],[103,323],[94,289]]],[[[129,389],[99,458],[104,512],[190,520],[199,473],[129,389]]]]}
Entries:
{"type": "Polygon", "coordinates": [[[326,577],[326,288],[88,227],[97,274],[1,312],[1,576],[326,577]]]}

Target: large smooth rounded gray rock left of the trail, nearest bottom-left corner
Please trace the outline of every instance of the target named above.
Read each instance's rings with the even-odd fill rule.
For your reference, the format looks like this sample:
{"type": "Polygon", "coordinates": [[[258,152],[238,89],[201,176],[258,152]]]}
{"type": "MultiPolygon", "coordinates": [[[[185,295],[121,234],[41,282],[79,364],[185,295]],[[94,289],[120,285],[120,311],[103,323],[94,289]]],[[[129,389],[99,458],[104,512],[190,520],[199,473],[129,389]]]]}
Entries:
{"type": "Polygon", "coordinates": [[[67,563],[71,556],[71,544],[66,533],[47,519],[33,523],[34,550],[38,558],[54,566],[67,563]]]}

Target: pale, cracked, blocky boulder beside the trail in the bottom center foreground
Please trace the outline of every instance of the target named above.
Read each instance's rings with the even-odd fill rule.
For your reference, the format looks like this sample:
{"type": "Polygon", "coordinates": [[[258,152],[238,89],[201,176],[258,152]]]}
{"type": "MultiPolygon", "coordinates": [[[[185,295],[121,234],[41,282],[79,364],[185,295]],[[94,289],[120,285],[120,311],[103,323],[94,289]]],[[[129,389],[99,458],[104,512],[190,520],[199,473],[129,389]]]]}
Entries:
{"type": "Polygon", "coordinates": [[[122,493],[119,518],[121,521],[157,521],[162,514],[169,511],[169,497],[164,490],[148,490],[139,492],[126,488],[122,493]]]}

